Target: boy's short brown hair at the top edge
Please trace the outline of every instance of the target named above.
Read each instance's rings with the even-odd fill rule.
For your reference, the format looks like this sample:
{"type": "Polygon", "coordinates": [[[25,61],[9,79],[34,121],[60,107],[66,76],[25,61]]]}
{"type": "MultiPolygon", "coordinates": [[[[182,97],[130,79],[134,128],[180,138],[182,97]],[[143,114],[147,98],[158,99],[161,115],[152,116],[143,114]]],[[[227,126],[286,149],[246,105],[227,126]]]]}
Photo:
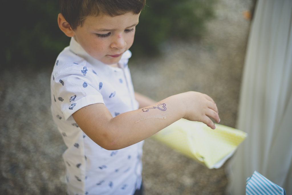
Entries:
{"type": "Polygon", "coordinates": [[[82,25],[87,16],[99,13],[117,16],[132,12],[139,14],[146,0],[59,0],[60,11],[72,30],[82,25]]]}

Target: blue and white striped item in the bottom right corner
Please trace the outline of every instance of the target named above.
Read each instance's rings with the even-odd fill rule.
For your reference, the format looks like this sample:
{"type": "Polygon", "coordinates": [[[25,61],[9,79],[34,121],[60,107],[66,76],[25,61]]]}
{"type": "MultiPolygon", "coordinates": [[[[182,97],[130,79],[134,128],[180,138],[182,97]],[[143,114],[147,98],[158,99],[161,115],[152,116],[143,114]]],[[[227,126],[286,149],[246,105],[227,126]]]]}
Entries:
{"type": "Polygon", "coordinates": [[[268,195],[286,195],[285,190],[265,178],[255,171],[251,177],[246,178],[246,195],[268,194],[268,195]]]}

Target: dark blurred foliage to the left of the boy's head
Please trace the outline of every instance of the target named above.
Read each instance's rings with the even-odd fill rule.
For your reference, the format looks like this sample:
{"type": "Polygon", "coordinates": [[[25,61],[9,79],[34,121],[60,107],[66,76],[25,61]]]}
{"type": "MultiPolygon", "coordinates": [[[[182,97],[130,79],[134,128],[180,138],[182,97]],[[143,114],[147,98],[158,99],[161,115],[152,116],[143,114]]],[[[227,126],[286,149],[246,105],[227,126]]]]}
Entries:
{"type": "Polygon", "coordinates": [[[1,6],[5,20],[0,55],[8,65],[47,65],[68,46],[70,39],[57,23],[57,0],[3,1],[1,6]]]}

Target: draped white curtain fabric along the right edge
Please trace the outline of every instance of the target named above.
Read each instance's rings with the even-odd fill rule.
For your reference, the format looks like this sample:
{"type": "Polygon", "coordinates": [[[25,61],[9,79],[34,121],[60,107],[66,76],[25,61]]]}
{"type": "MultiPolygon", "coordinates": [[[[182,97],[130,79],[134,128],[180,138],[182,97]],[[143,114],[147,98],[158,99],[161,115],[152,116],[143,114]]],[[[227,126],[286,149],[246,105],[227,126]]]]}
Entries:
{"type": "Polygon", "coordinates": [[[237,128],[248,133],[227,170],[228,194],[245,194],[256,170],[292,195],[292,0],[258,0],[237,128]]]}

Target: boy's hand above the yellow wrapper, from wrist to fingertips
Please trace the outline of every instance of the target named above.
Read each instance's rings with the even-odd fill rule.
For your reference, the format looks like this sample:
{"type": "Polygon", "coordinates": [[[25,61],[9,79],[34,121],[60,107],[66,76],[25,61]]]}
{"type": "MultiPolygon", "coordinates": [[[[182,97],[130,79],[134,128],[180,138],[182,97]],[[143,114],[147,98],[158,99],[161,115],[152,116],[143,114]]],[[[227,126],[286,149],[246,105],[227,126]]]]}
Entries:
{"type": "Polygon", "coordinates": [[[218,109],[214,100],[206,94],[189,91],[181,93],[182,102],[185,104],[185,116],[190,121],[200,121],[215,129],[215,124],[210,119],[220,122],[218,109]],[[209,118],[210,117],[210,118],[209,118]]]}

